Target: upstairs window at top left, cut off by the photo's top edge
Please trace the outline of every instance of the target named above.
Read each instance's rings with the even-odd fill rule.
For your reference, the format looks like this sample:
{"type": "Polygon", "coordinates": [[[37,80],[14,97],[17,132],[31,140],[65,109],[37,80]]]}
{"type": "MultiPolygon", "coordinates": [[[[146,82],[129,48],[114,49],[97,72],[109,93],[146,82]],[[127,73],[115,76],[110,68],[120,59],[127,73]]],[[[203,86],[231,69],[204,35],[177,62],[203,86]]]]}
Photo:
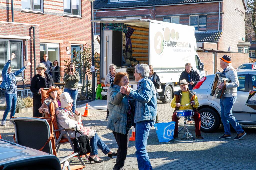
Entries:
{"type": "Polygon", "coordinates": [[[25,10],[42,12],[42,0],[21,0],[21,8],[25,10]]]}

